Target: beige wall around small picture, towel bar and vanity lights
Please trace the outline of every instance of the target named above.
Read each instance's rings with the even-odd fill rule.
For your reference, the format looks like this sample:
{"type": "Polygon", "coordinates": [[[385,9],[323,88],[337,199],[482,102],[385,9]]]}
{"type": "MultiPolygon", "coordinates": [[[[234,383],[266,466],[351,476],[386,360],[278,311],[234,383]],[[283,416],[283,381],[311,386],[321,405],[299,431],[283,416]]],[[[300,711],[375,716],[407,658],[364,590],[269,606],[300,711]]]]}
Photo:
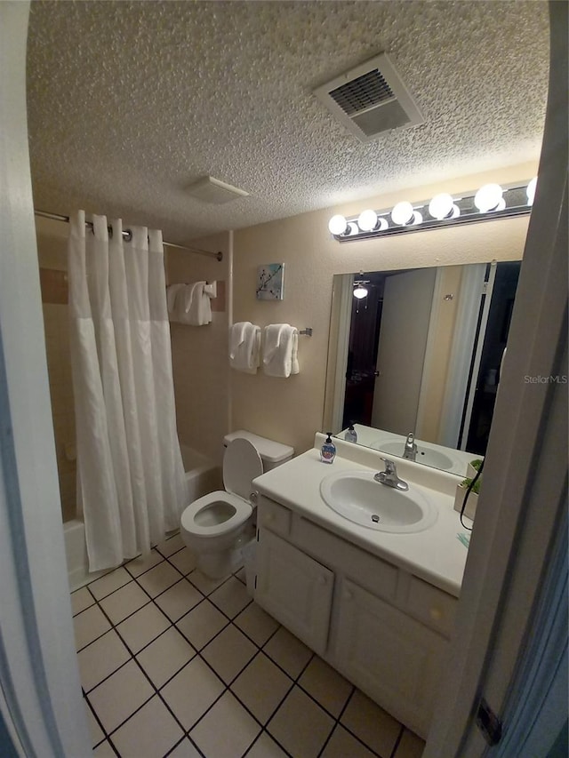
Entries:
{"type": "Polygon", "coordinates": [[[527,217],[500,219],[381,240],[338,243],[327,230],[333,213],[353,216],[365,207],[381,210],[399,200],[419,202],[441,191],[468,193],[488,181],[508,184],[531,179],[535,172],[536,164],[523,164],[237,230],[234,321],[252,321],[261,327],[280,322],[301,329],[310,326],[314,336],[300,338],[301,373],[297,376],[275,379],[259,372],[251,376],[230,371],[231,427],[244,427],[291,444],[297,452],[312,445],[314,433],[322,429],[323,422],[334,274],[520,259],[528,223],[527,217]],[[257,267],[280,262],[285,264],[284,300],[258,301],[257,267]]]}

